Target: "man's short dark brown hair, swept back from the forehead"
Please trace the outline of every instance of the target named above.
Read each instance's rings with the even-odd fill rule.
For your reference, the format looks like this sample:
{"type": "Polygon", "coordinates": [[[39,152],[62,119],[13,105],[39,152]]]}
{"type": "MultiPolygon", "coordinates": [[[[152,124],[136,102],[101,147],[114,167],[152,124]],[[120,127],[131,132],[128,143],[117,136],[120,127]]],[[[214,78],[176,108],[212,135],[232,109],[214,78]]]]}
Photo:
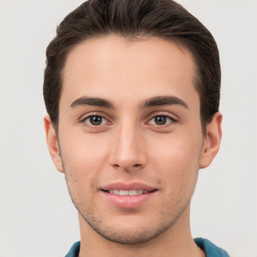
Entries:
{"type": "Polygon", "coordinates": [[[55,127],[67,54],[84,40],[110,34],[127,39],[159,37],[191,52],[197,67],[194,84],[205,133],[206,124],[219,108],[219,52],[211,33],[172,0],[89,0],[65,17],[46,50],[44,100],[55,127]]]}

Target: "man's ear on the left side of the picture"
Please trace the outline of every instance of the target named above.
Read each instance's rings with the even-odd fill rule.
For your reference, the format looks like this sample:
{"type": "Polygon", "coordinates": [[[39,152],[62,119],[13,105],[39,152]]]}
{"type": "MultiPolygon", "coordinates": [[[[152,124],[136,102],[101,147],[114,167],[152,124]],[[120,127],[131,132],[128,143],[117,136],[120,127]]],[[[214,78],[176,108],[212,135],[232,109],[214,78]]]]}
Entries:
{"type": "Polygon", "coordinates": [[[50,116],[44,117],[46,142],[52,161],[59,172],[63,172],[62,159],[59,151],[58,140],[50,116]]]}

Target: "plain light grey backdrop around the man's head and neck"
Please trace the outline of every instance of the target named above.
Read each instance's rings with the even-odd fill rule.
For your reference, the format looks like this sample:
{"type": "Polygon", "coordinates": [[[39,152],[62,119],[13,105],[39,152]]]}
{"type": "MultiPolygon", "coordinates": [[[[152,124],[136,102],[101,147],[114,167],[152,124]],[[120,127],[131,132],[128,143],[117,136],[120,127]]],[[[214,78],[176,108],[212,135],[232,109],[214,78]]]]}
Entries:
{"type": "MultiPolygon", "coordinates": [[[[77,212],[52,164],[43,130],[45,49],[81,0],[0,1],[0,256],[64,256],[79,240],[77,212]]],[[[213,34],[222,65],[223,139],[200,171],[192,200],[194,237],[231,256],[256,257],[255,0],[180,0],[213,34]]]]}

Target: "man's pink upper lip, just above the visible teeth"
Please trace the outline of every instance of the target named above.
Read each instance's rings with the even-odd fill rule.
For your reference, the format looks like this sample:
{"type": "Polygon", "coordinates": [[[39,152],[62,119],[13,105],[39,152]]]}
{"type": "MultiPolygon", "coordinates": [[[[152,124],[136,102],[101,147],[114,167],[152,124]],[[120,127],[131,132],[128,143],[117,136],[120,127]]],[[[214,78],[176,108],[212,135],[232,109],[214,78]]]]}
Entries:
{"type": "Polygon", "coordinates": [[[113,190],[113,189],[118,189],[118,190],[143,189],[143,190],[153,191],[157,188],[154,188],[142,182],[132,182],[132,183],[114,182],[101,187],[101,190],[105,190],[105,191],[113,190]]]}

